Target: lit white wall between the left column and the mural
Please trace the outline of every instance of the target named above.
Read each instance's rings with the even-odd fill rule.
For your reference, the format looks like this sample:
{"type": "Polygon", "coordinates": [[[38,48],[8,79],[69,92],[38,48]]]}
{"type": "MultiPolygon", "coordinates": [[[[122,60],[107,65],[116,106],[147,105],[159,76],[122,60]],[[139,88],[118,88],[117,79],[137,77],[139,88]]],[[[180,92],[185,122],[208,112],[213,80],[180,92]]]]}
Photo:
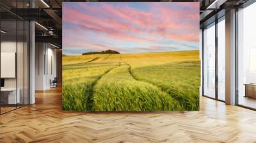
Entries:
{"type": "Polygon", "coordinates": [[[49,43],[36,43],[35,54],[35,89],[49,89],[50,80],[56,77],[56,49],[49,43]]]}

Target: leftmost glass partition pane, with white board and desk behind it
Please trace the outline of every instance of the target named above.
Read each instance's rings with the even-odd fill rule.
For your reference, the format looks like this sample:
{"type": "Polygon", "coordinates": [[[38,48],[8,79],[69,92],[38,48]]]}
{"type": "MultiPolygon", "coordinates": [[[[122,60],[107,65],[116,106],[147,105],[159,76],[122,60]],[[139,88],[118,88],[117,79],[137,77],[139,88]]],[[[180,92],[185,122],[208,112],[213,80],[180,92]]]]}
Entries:
{"type": "MultiPolygon", "coordinates": [[[[1,21],[1,113],[17,108],[17,21],[1,21]]],[[[18,96],[17,96],[18,95],[18,96]]]]}

